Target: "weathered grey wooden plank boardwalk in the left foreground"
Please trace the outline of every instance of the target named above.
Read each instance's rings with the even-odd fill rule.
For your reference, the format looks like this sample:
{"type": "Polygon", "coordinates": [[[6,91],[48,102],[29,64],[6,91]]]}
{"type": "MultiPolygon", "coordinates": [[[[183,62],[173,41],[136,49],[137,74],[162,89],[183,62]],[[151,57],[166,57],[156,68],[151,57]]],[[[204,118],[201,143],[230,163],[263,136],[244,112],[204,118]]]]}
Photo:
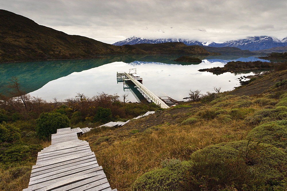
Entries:
{"type": "Polygon", "coordinates": [[[63,128],[52,134],[51,146],[38,152],[26,190],[112,189],[89,143],[79,140],[71,128],[63,128]]]}

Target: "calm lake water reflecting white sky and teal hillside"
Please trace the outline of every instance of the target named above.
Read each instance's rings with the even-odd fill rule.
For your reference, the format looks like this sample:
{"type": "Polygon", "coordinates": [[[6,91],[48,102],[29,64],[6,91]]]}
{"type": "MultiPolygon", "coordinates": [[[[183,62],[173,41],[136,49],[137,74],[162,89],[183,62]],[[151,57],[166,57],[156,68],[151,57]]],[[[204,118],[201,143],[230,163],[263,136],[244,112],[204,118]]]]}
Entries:
{"type": "MultiPolygon", "coordinates": [[[[117,71],[128,72],[129,69],[136,68],[137,74],[143,78],[143,84],[152,92],[181,101],[187,97],[189,89],[199,89],[201,93],[205,93],[212,91],[215,86],[221,86],[223,91],[232,90],[240,85],[238,77],[253,75],[255,72],[214,75],[199,72],[199,69],[223,67],[229,61],[261,60],[255,57],[201,56],[200,64],[181,65],[173,61],[177,57],[179,55],[125,55],[102,59],[1,64],[0,92],[5,93],[9,78],[16,76],[24,91],[47,101],[55,97],[65,100],[74,97],[77,92],[88,97],[101,92],[118,93],[121,96],[129,92],[123,91],[123,84],[117,84],[117,71]]],[[[136,101],[132,93],[129,93],[128,100],[136,101]]]]}

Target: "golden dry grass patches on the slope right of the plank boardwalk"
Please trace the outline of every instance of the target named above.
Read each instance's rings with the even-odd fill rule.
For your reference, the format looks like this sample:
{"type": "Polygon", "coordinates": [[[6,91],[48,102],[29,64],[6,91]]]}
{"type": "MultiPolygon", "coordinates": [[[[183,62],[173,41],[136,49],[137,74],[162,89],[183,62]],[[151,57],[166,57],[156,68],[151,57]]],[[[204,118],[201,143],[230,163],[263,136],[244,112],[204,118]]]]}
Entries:
{"type": "MultiPolygon", "coordinates": [[[[236,97],[224,102],[235,102],[238,99],[240,98],[236,97]]],[[[251,101],[255,99],[251,98],[251,101]]],[[[201,106],[194,111],[210,110],[212,107],[211,105],[201,106]]],[[[253,104],[250,108],[262,109],[258,104],[253,104]]],[[[222,107],[222,109],[230,110],[232,105],[222,107]]],[[[144,131],[132,134],[131,129],[142,130],[145,120],[151,121],[152,118],[156,120],[156,114],[147,119],[136,120],[126,130],[123,126],[117,130],[87,134],[82,139],[90,143],[99,164],[104,168],[111,187],[118,190],[131,190],[137,177],[159,168],[162,160],[172,158],[189,160],[193,152],[206,146],[243,140],[254,128],[246,125],[243,119],[223,123],[217,118],[212,120],[199,118],[195,124],[181,124],[187,117],[196,117],[196,112],[192,115],[180,113],[176,115],[177,124],[159,123],[150,133],[144,131]],[[108,137],[108,140],[96,143],[100,137],[108,137]]],[[[172,118],[172,115],[167,114],[168,110],[162,113],[166,119],[172,118]]]]}

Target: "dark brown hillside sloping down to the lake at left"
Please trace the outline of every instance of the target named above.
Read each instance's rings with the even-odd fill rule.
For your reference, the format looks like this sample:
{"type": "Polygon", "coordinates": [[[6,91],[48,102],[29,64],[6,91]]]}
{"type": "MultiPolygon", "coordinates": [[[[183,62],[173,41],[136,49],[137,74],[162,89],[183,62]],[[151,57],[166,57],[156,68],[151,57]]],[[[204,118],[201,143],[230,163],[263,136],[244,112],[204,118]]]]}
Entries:
{"type": "Polygon", "coordinates": [[[91,58],[96,54],[146,54],[131,45],[115,46],[38,25],[0,10],[0,62],[91,58]]]}

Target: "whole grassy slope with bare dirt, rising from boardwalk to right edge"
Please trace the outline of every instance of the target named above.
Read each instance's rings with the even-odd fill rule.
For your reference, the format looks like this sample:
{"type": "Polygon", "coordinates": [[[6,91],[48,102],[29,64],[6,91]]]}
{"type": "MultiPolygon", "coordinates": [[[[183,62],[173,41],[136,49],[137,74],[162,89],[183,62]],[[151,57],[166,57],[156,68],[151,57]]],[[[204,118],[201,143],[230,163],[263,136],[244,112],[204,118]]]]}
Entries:
{"type": "MultiPolygon", "coordinates": [[[[258,87],[260,93],[263,92],[262,89],[267,92],[286,91],[286,85],[269,89],[278,80],[272,80],[272,78],[276,78],[277,75],[278,77],[287,77],[284,73],[286,71],[271,73],[259,79],[258,82],[255,80],[251,84],[251,86],[253,85],[252,91],[255,91],[258,83],[262,86],[265,83],[265,87],[258,87]]],[[[237,94],[234,92],[230,92],[230,94],[237,94]]],[[[248,91],[242,92],[248,93],[248,91]]],[[[274,99],[270,98],[270,94],[266,99],[272,101],[269,102],[272,105],[268,105],[267,102],[258,102],[257,99],[263,95],[255,97],[230,95],[222,101],[209,104],[192,104],[190,107],[171,108],[132,121],[116,130],[93,130],[85,134],[82,139],[90,143],[99,164],[103,166],[107,174],[111,187],[129,190],[140,175],[160,168],[162,160],[189,160],[193,152],[206,146],[243,140],[247,133],[255,128],[255,125],[246,124],[244,119],[263,108],[275,107],[274,104],[278,102],[278,96],[276,93],[271,95],[274,95],[274,99]],[[238,105],[244,105],[245,102],[249,104],[238,105]],[[213,110],[214,107],[225,109],[229,114],[232,109],[239,108],[243,115],[232,116],[231,120],[226,120],[222,116],[210,119],[200,116],[200,113],[213,110]],[[197,120],[193,124],[185,125],[182,122],[187,118],[196,118],[197,120]]]]}

